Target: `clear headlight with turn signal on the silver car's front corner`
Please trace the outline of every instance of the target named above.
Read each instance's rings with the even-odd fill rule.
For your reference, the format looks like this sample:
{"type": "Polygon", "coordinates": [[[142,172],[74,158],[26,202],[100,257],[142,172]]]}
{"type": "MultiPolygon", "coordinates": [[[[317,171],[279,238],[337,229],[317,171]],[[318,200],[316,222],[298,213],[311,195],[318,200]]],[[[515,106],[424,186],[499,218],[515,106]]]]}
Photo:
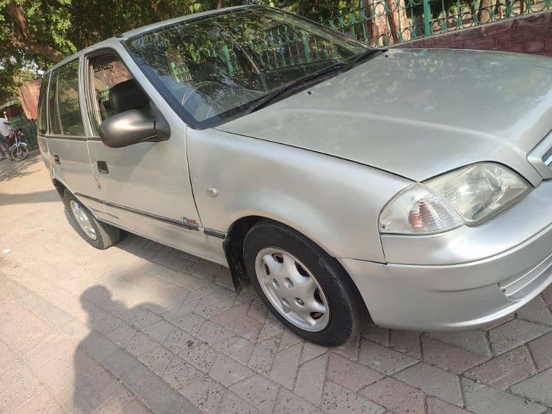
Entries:
{"type": "Polygon", "coordinates": [[[380,215],[382,233],[440,233],[477,226],[531,190],[522,177],[500,164],[473,164],[400,191],[380,215]]]}

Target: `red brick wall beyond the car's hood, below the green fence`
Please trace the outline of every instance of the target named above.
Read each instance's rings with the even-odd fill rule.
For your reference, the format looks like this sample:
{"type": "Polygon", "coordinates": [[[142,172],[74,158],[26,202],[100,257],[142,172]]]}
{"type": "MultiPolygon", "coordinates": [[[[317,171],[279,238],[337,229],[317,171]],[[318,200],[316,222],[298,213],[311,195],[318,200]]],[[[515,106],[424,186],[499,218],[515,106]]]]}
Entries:
{"type": "Polygon", "coordinates": [[[395,47],[502,50],[552,57],[552,10],[437,34],[395,47]]]}

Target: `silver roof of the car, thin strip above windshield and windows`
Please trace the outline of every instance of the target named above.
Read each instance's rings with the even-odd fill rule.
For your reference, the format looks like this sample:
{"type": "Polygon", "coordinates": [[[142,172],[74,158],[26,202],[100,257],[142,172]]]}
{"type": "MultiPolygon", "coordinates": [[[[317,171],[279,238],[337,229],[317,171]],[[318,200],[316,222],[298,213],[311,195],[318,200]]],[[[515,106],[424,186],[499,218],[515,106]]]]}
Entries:
{"type": "Polygon", "coordinates": [[[246,9],[246,8],[264,8],[264,6],[256,6],[256,5],[245,5],[245,6],[233,6],[233,7],[226,7],[226,8],[220,8],[220,9],[214,9],[214,10],[208,10],[206,12],[199,12],[199,13],[193,13],[193,14],[186,14],[185,16],[176,17],[175,19],[168,19],[164,21],[159,21],[159,23],[152,23],[147,26],[142,26],[141,28],[128,30],[128,32],[124,32],[123,34],[119,34],[116,37],[110,37],[109,39],[100,41],[99,43],[95,43],[92,46],[88,46],[88,48],[84,48],[82,50],[79,50],[79,52],[70,55],[63,59],[62,61],[59,61],[55,65],[51,66],[44,72],[44,75],[48,74],[48,72],[54,70],[55,68],[58,68],[59,66],[63,66],[64,64],[77,59],[80,57],[80,55],[83,55],[85,53],[91,52],[92,50],[97,50],[101,48],[108,48],[112,46],[114,42],[120,42],[126,39],[129,39],[130,37],[137,36],[141,33],[150,32],[151,30],[156,30],[158,28],[162,28],[164,26],[170,26],[171,24],[179,23],[181,21],[187,21],[187,20],[195,20],[195,19],[201,19],[202,17],[208,17],[215,14],[223,14],[226,12],[232,12],[233,10],[239,10],[239,9],[246,9]]]}

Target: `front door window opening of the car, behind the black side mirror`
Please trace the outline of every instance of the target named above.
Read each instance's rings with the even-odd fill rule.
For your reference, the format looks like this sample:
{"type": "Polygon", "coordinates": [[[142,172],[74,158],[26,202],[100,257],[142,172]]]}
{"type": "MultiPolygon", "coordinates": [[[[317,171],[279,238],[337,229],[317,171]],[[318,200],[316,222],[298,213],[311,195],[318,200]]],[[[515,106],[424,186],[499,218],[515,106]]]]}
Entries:
{"type": "Polygon", "coordinates": [[[89,76],[93,90],[91,95],[90,121],[95,134],[99,125],[117,113],[117,108],[111,101],[110,91],[114,86],[130,81],[132,75],[124,63],[116,55],[108,54],[90,59],[89,76]]]}

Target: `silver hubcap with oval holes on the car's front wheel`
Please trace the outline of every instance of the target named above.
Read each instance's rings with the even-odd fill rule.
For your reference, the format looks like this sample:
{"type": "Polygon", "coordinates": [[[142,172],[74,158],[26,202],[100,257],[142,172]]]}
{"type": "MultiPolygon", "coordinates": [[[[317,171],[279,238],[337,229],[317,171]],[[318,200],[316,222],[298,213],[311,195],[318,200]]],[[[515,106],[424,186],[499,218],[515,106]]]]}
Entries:
{"type": "Polygon", "coordinates": [[[277,311],[305,331],[322,331],[330,322],[330,307],[313,273],[282,248],[261,250],[255,259],[259,284],[277,311]]]}

